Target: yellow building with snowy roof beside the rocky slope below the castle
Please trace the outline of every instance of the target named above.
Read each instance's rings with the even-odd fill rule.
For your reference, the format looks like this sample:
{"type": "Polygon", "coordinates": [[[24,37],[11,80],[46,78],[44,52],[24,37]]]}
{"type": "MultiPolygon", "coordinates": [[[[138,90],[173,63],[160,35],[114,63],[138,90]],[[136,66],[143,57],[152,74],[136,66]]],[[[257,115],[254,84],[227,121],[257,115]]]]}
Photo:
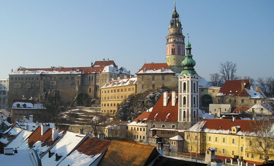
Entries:
{"type": "Polygon", "coordinates": [[[115,115],[119,105],[128,96],[136,94],[136,82],[136,77],[124,78],[109,81],[101,87],[101,113],[115,115]]]}

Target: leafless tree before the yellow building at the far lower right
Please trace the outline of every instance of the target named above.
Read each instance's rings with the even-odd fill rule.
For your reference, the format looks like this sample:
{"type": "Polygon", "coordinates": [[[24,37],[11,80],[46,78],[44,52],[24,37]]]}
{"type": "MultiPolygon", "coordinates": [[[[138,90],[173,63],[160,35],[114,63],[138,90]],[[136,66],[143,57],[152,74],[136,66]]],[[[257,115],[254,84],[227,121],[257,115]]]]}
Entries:
{"type": "Polygon", "coordinates": [[[249,148],[258,155],[262,160],[268,161],[268,156],[273,155],[274,147],[274,123],[269,120],[267,115],[263,115],[261,120],[250,121],[253,131],[249,134],[249,148]]]}

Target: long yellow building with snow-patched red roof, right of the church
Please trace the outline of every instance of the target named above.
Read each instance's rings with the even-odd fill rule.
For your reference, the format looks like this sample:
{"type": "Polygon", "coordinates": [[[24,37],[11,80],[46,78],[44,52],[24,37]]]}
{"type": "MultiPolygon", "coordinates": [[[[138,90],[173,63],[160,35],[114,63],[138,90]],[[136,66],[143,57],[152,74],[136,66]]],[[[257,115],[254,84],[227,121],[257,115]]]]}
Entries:
{"type": "Polygon", "coordinates": [[[274,124],[270,125],[269,138],[262,139],[255,137],[252,125],[255,123],[253,120],[202,119],[185,131],[185,151],[205,154],[206,149],[211,147],[215,149],[216,158],[223,160],[233,158],[237,161],[239,158],[250,164],[262,164],[265,157],[273,160],[274,124]],[[267,155],[258,152],[264,148],[268,151],[267,155]]]}

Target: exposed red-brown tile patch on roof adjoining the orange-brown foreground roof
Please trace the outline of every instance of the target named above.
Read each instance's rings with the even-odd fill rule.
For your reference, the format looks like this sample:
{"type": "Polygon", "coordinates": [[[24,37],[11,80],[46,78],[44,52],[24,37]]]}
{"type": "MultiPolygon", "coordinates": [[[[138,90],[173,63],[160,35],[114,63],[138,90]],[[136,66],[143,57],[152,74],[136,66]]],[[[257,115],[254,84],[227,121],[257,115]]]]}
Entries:
{"type": "Polygon", "coordinates": [[[79,147],[76,148],[76,150],[89,156],[95,156],[97,154],[104,153],[110,144],[111,141],[109,140],[88,137],[82,144],[79,145],[79,147]]]}

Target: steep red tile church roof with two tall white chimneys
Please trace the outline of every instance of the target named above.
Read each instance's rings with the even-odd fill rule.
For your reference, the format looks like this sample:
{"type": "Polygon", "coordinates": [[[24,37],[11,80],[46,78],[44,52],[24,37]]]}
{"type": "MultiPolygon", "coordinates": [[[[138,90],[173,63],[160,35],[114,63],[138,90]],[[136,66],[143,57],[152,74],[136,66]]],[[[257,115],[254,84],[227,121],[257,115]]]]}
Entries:
{"type": "Polygon", "coordinates": [[[155,106],[152,109],[152,112],[150,113],[148,117],[148,121],[162,121],[162,122],[177,122],[178,120],[178,94],[176,95],[176,103],[175,106],[171,105],[171,93],[168,95],[168,101],[167,106],[163,106],[163,95],[160,97],[158,102],[155,104],[155,106]],[[157,115],[155,118],[154,116],[157,115]],[[168,113],[170,113],[169,117],[167,117],[168,113]]]}

